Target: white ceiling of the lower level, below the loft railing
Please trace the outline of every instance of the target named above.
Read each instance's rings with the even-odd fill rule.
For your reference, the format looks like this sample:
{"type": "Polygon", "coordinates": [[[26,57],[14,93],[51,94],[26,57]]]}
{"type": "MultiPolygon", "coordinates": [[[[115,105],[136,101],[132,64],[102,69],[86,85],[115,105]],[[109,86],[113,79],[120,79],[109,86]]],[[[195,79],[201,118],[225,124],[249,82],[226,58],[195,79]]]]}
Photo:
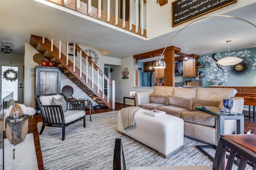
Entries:
{"type": "MultiPolygon", "coordinates": [[[[256,1],[222,15],[256,24],[255,9],[256,1]]],[[[34,0],[0,0],[0,45],[10,46],[16,55],[24,55],[30,35],[113,51],[106,56],[124,58],[164,48],[175,33],[145,40],[34,0]]],[[[227,40],[231,40],[230,51],[256,47],[256,27],[233,18],[214,17],[189,25],[168,46],[179,47],[185,54],[206,55],[228,51],[227,40]]]]}

